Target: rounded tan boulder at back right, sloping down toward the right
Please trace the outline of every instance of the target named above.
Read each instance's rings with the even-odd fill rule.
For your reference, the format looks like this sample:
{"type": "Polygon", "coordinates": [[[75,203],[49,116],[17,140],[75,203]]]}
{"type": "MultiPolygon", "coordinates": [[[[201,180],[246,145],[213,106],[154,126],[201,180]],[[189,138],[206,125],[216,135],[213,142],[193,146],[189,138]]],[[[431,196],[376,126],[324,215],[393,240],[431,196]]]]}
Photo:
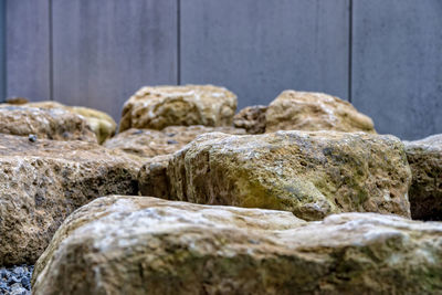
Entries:
{"type": "Polygon", "coordinates": [[[324,93],[284,91],[266,112],[266,131],[337,130],[376,133],[368,116],[348,102],[324,93]]]}

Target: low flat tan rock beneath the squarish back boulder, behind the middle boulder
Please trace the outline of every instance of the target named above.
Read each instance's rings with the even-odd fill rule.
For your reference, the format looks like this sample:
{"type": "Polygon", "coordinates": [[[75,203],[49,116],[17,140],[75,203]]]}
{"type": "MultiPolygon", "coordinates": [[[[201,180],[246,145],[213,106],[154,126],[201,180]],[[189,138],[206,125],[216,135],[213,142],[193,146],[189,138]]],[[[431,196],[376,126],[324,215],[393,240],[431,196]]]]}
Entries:
{"type": "Polygon", "coordinates": [[[159,130],[128,129],[104,143],[104,146],[134,154],[139,157],[155,157],[172,154],[197,136],[206,133],[245,134],[244,129],[233,127],[169,126],[159,130]]]}

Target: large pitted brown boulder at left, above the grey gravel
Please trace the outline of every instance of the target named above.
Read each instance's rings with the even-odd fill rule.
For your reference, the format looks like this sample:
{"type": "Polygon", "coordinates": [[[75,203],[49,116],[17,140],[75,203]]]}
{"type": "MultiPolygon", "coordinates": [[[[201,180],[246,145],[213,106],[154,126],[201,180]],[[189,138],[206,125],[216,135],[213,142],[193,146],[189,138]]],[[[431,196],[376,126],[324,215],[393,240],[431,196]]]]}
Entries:
{"type": "Polygon", "coordinates": [[[137,194],[140,165],[98,144],[0,135],[0,265],[33,264],[88,201],[137,194]]]}

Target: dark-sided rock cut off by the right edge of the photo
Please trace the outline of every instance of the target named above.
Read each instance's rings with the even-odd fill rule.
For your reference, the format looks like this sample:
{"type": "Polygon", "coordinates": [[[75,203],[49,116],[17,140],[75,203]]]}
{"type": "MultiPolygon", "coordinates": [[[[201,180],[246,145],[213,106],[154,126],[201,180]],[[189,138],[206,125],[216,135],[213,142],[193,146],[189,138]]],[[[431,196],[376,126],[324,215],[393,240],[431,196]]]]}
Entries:
{"type": "Polygon", "coordinates": [[[406,144],[412,182],[411,217],[420,220],[442,220],[442,135],[406,144]]]}

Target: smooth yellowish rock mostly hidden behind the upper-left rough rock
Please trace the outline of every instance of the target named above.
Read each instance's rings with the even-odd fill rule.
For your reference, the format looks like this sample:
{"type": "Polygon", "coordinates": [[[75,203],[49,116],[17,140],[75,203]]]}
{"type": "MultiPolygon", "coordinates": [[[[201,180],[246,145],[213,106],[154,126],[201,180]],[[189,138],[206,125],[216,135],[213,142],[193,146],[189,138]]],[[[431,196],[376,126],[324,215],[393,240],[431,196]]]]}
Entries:
{"type": "Polygon", "coordinates": [[[57,102],[50,101],[30,103],[28,105],[40,108],[63,108],[80,116],[83,116],[90,125],[91,129],[96,134],[99,144],[103,144],[107,138],[114,136],[117,128],[117,124],[109,115],[93,108],[82,106],[65,106],[57,102]]]}

